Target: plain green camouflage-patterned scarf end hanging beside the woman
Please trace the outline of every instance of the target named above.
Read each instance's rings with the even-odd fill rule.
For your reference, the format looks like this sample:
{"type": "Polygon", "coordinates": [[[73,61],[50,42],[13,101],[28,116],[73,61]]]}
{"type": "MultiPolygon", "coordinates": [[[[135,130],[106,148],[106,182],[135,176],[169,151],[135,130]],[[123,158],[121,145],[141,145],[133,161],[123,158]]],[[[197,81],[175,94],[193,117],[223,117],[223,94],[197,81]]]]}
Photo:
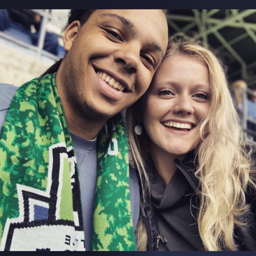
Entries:
{"type": "MultiPolygon", "coordinates": [[[[131,217],[127,132],[121,114],[109,137],[98,139],[98,178],[94,201],[93,250],[136,250],[131,217]]],[[[112,125],[113,125],[112,124],[112,125]]]]}

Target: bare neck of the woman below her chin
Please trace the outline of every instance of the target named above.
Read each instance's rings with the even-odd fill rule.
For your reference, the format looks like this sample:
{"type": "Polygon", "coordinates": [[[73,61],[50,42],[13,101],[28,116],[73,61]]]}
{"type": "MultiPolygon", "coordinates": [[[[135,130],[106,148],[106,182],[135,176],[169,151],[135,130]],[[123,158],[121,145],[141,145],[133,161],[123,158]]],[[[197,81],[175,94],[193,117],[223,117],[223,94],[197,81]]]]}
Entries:
{"type": "Polygon", "coordinates": [[[154,162],[157,173],[167,185],[177,169],[177,166],[174,163],[174,159],[178,158],[180,161],[182,161],[186,154],[176,155],[169,153],[156,146],[153,142],[151,142],[150,148],[152,160],[154,162]]]}

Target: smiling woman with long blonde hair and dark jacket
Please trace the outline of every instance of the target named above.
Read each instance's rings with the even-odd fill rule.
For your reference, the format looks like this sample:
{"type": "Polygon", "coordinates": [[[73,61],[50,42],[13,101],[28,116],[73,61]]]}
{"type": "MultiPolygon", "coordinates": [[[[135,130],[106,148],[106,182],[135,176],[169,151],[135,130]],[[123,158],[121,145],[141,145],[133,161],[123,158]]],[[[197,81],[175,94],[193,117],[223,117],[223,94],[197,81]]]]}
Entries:
{"type": "Polygon", "coordinates": [[[237,120],[214,54],[171,40],[126,112],[141,180],[140,250],[256,250],[255,170],[237,120]]]}

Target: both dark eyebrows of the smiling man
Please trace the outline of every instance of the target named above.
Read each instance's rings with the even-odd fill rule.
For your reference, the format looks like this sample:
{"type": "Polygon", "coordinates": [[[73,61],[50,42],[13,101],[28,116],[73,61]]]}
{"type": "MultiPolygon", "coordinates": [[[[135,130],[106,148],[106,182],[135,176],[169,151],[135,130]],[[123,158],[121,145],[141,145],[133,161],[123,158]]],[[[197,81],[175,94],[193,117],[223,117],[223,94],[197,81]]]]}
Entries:
{"type": "MultiPolygon", "coordinates": [[[[103,14],[101,14],[101,16],[109,16],[112,18],[116,18],[116,19],[120,20],[131,31],[132,34],[135,34],[137,32],[137,28],[134,25],[134,23],[123,16],[120,16],[120,15],[117,15],[114,13],[103,13],[103,14]]],[[[163,55],[164,55],[163,49],[157,41],[155,41],[153,39],[148,40],[147,45],[150,45],[152,48],[154,48],[154,50],[160,52],[163,57],[163,55]]]]}

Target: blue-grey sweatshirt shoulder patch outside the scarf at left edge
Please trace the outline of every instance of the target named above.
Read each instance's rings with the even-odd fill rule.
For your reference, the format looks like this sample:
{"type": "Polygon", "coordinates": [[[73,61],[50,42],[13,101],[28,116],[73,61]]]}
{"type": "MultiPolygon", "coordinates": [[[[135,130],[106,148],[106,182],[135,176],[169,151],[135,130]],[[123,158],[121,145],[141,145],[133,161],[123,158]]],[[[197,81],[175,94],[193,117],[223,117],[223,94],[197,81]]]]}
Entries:
{"type": "Polygon", "coordinates": [[[0,83],[0,111],[9,109],[12,98],[18,87],[12,84],[0,83]]]}

